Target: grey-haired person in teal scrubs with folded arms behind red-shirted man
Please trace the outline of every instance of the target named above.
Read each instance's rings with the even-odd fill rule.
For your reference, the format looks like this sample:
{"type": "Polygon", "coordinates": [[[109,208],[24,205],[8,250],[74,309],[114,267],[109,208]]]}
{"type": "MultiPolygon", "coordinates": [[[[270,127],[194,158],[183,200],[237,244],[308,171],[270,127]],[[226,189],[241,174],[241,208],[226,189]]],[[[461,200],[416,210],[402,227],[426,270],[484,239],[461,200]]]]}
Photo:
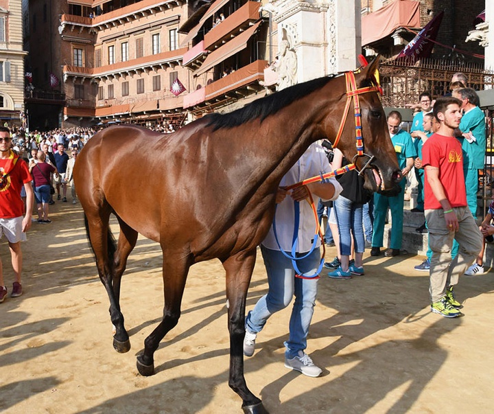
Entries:
{"type": "Polygon", "coordinates": [[[467,203],[477,219],[478,170],[484,168],[486,147],[485,115],[479,108],[480,100],[471,88],[455,89],[453,96],[462,102],[463,117],[455,136],[463,150],[463,172],[467,187],[467,203]]]}

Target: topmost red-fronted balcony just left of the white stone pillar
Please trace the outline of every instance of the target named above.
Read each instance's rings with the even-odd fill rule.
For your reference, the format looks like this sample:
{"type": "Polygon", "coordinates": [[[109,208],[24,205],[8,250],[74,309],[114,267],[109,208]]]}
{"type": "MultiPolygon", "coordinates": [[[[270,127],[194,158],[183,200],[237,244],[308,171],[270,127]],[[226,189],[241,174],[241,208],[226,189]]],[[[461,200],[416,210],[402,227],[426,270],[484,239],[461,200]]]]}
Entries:
{"type": "Polygon", "coordinates": [[[245,3],[239,10],[204,35],[204,48],[214,50],[248,29],[252,23],[259,20],[259,8],[261,8],[261,3],[258,1],[245,3]]]}

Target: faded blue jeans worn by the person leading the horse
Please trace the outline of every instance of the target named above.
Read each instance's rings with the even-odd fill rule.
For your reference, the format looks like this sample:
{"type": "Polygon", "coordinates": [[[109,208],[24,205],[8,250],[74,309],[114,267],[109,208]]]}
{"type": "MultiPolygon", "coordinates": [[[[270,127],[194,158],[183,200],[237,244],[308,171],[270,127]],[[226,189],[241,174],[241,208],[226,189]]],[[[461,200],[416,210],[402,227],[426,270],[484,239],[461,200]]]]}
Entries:
{"type": "MultiPolygon", "coordinates": [[[[294,358],[298,351],[307,348],[307,334],[314,314],[318,279],[301,279],[295,277],[292,261],[281,251],[267,249],[261,245],[261,253],[268,273],[268,294],[257,301],[253,310],[246,317],[246,330],[261,332],[269,317],[286,308],[295,295],[292,316],[290,317],[290,336],[285,341],[286,358],[294,358]]],[[[307,253],[299,253],[303,256],[307,253]]],[[[301,272],[314,273],[320,262],[320,251],[314,251],[305,259],[298,260],[301,272]]]]}

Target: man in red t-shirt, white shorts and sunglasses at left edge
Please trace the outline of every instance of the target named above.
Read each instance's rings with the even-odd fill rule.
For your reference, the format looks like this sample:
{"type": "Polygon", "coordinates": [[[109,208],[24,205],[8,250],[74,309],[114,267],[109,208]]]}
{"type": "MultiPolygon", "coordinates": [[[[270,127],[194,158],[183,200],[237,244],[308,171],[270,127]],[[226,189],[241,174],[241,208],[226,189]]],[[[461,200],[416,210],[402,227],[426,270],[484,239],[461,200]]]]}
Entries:
{"type": "MultiPolygon", "coordinates": [[[[32,176],[27,164],[10,149],[10,130],[0,127],[0,238],[3,234],[8,240],[15,281],[11,297],[22,295],[21,241],[25,240],[25,231],[31,227],[34,193],[31,185],[32,176]],[[26,192],[26,213],[21,199],[21,188],[26,192]]],[[[3,266],[0,258],[0,303],[7,296],[3,283],[3,266]]]]}

